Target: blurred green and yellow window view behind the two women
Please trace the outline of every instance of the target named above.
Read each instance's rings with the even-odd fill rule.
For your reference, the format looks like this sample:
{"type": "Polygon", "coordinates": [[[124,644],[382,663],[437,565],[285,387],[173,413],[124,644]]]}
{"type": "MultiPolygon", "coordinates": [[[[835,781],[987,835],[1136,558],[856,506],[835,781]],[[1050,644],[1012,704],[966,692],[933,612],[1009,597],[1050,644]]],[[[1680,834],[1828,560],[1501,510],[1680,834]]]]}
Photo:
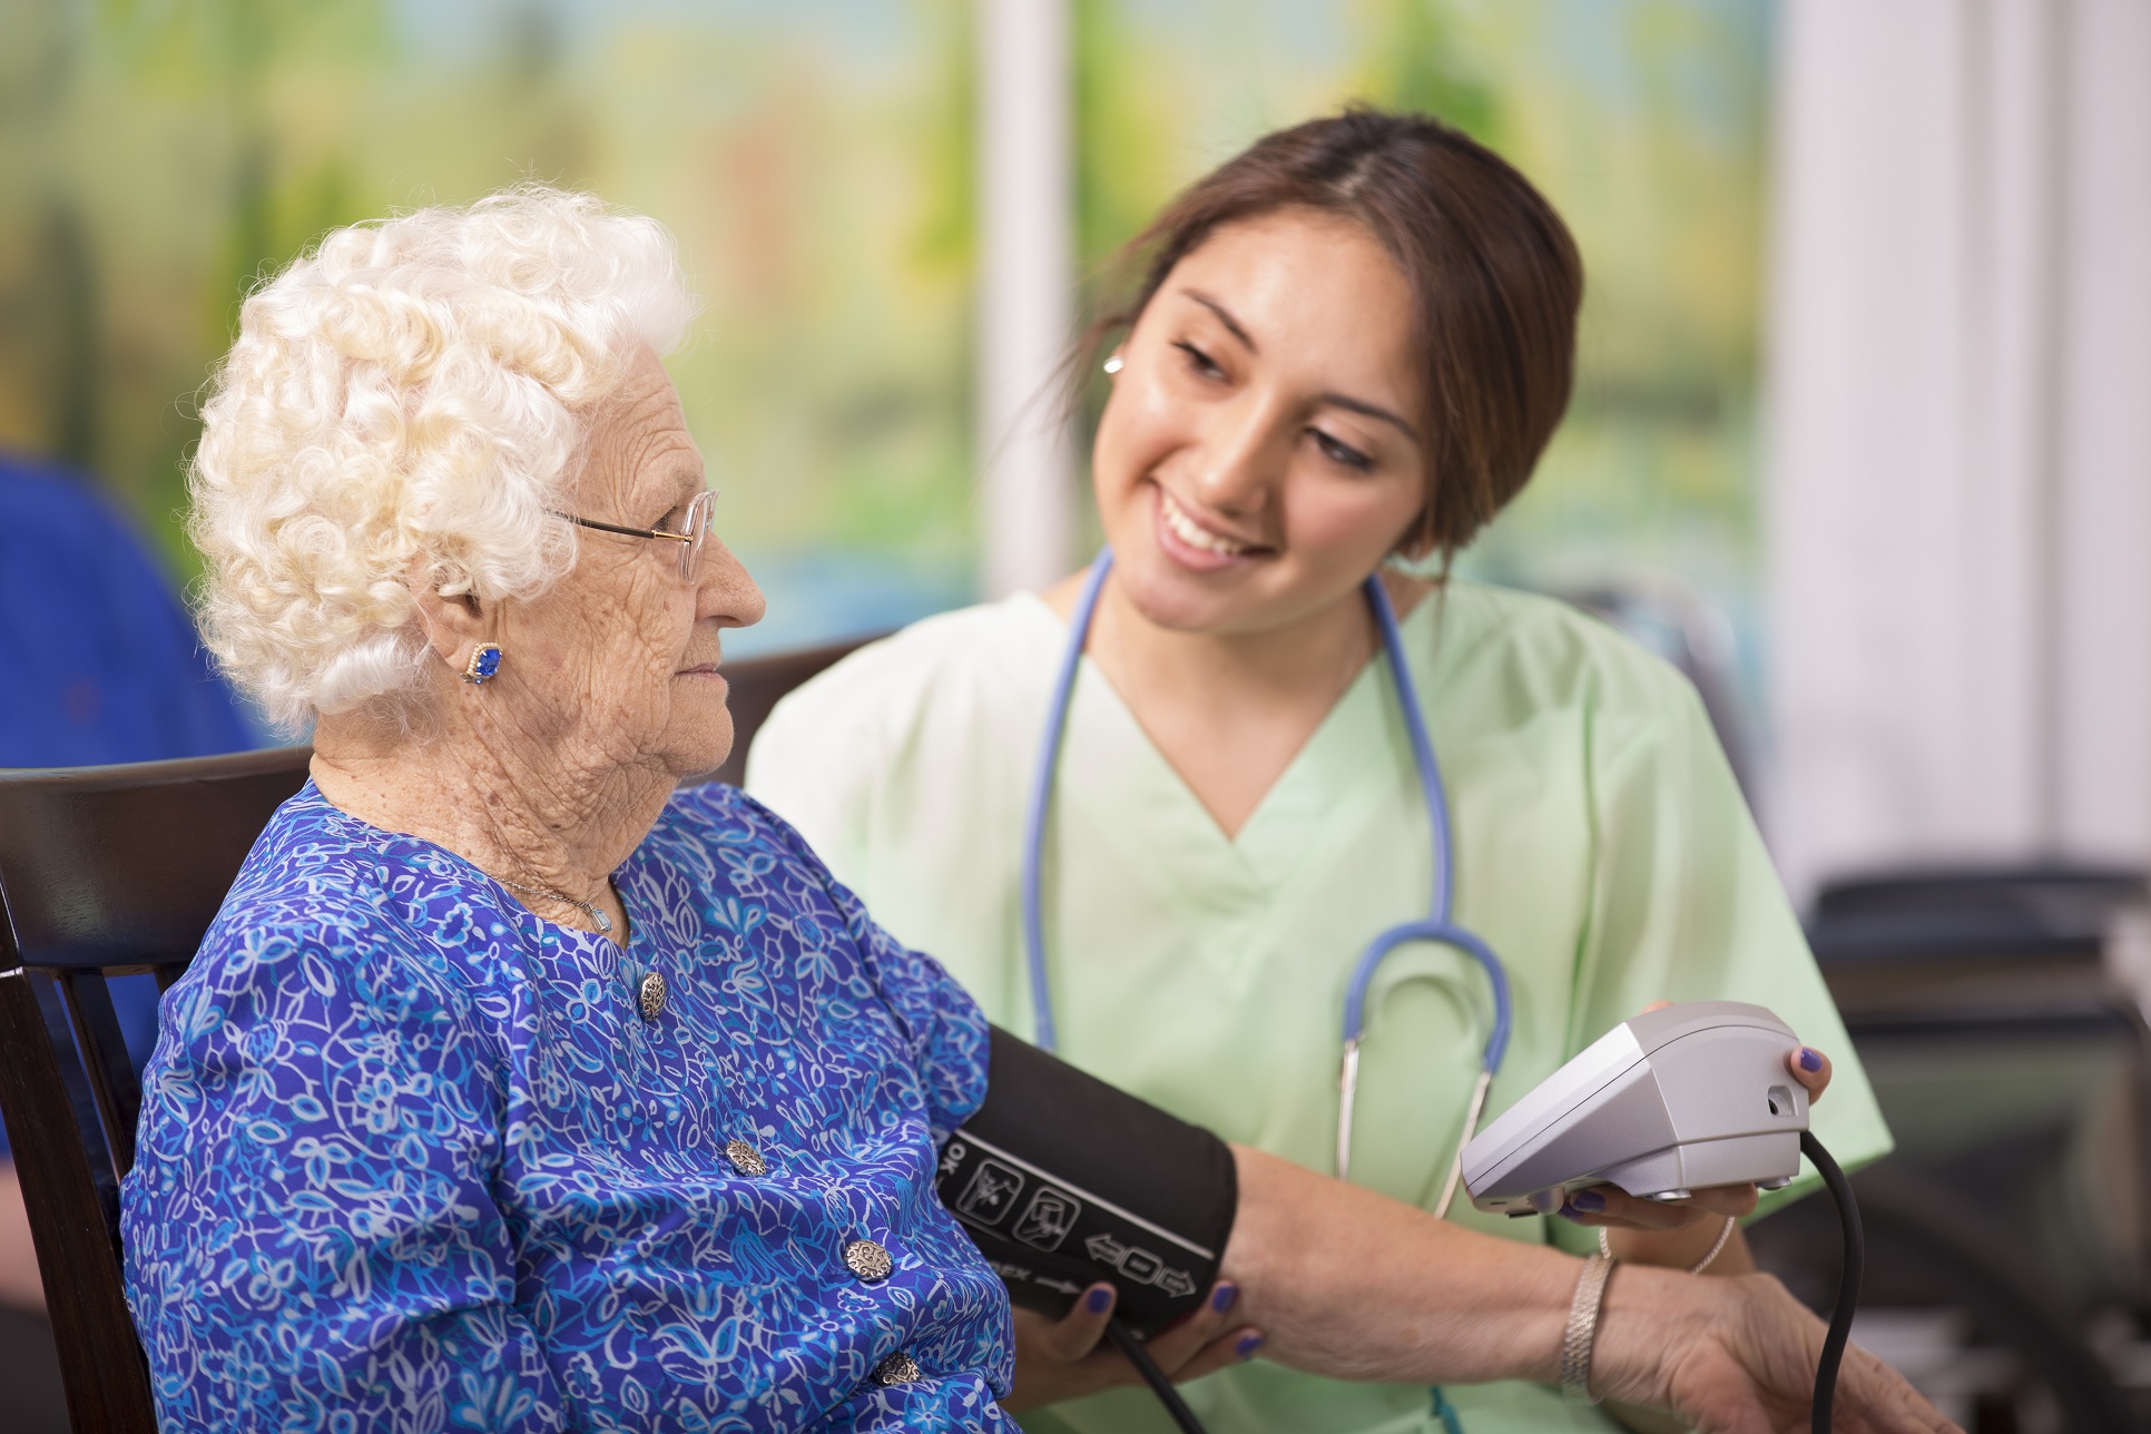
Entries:
{"type": "MultiPolygon", "coordinates": [[[[1465,125],[1572,224],[1577,404],[1467,568],[1661,568],[1755,611],[1766,0],[1073,0],[1078,254],[1347,99],[1465,125]]],[[[176,580],[196,391],[258,275],[325,228],[516,178],[680,236],[673,363],[736,651],[974,591],[968,0],[6,0],[0,445],[60,456],[176,580]]],[[[1751,651],[1753,645],[1744,643],[1751,651]]]]}

